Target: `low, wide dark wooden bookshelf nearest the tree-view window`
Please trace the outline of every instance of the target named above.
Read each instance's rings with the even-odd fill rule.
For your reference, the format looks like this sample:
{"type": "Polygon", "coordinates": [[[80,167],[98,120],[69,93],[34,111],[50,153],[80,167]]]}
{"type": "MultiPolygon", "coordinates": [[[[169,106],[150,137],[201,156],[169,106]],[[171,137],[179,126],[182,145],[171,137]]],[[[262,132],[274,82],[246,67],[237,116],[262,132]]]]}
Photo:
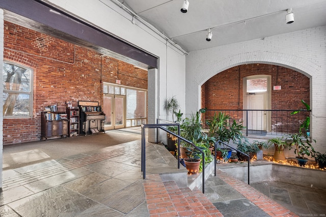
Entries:
{"type": "Polygon", "coordinates": [[[41,112],[41,139],[68,136],[68,117],[62,112],[41,112]]]}

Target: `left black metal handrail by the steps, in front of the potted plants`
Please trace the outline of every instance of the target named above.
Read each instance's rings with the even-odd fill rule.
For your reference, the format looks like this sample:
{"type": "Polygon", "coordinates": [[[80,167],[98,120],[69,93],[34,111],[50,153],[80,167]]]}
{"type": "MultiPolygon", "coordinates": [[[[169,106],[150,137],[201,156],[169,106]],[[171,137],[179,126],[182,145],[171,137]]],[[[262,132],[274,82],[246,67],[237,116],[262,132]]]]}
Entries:
{"type": "MultiPolygon", "coordinates": [[[[164,130],[170,134],[172,134],[173,136],[178,138],[178,141],[183,140],[188,144],[191,144],[196,150],[198,150],[199,152],[201,152],[202,154],[202,162],[203,162],[203,170],[202,170],[202,176],[203,176],[203,194],[205,193],[205,152],[203,150],[201,150],[199,147],[197,147],[193,142],[188,141],[186,139],[184,139],[183,137],[169,131],[168,129],[164,128],[166,126],[178,126],[178,134],[180,135],[180,125],[179,123],[156,123],[156,124],[147,124],[147,125],[141,125],[142,127],[142,172],[143,172],[143,179],[146,178],[146,137],[145,137],[145,130],[146,128],[156,128],[156,129],[161,129],[164,130]]],[[[216,153],[215,153],[216,156],[216,153]]],[[[178,142],[178,169],[180,169],[180,142],[178,142]]],[[[215,160],[216,161],[216,160],[215,160]]],[[[216,164],[216,162],[215,162],[216,164]]],[[[216,166],[215,166],[216,167],[216,166]]],[[[216,175],[215,175],[216,176],[216,175]]]]}

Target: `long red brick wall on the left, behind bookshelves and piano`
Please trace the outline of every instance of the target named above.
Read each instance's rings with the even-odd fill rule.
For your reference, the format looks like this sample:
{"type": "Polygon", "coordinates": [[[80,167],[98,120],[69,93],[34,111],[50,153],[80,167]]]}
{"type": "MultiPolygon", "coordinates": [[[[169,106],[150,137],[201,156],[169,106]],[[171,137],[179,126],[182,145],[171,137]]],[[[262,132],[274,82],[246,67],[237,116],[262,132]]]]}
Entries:
{"type": "Polygon", "coordinates": [[[147,89],[147,71],[100,53],[79,47],[5,21],[4,60],[34,71],[33,117],[5,118],[4,145],[39,140],[41,111],[66,101],[103,104],[102,82],[147,89]],[[119,63],[119,75],[118,75],[119,63]]]}

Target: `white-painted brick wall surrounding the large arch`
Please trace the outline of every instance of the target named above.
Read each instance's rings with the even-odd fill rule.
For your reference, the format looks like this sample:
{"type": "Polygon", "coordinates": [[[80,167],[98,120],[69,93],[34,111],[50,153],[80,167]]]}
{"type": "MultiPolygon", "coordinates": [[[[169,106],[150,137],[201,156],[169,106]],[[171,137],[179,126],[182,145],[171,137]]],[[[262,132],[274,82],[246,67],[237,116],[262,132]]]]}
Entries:
{"type": "MultiPolygon", "coordinates": [[[[310,78],[311,136],[326,151],[326,26],[231,45],[198,50],[186,56],[186,113],[200,108],[200,86],[231,67],[265,63],[284,66],[310,78]]],[[[298,96],[298,101],[301,100],[298,96]]]]}

